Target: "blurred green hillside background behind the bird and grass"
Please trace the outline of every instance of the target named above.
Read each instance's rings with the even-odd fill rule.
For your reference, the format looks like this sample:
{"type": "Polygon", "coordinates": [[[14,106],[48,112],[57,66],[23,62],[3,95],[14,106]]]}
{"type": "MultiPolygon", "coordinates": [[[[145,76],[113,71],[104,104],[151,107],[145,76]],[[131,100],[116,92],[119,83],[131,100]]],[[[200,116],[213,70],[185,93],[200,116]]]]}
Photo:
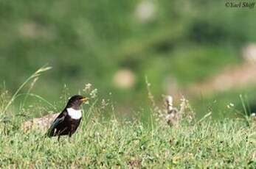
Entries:
{"type": "Polygon", "coordinates": [[[221,115],[229,103],[240,109],[243,94],[256,111],[256,74],[241,79],[253,66],[247,53],[256,54],[255,16],[255,8],[221,0],[0,0],[1,87],[15,92],[47,63],[53,68],[32,93],[48,101],[60,98],[64,84],[75,94],[91,83],[100,98],[111,93],[117,107],[133,112],[149,102],[148,76],[159,104],[162,94],[177,104],[184,95],[199,113],[221,115]],[[227,76],[242,73],[229,79],[231,87],[215,89],[211,79],[227,68],[227,76]]]}

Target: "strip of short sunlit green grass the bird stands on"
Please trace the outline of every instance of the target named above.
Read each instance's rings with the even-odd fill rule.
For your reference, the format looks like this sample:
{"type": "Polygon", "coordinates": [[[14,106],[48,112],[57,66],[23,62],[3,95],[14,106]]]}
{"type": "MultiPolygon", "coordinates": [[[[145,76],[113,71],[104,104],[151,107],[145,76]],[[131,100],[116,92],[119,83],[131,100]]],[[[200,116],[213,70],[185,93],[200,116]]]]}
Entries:
{"type": "MultiPolygon", "coordinates": [[[[88,107],[86,107],[88,110],[88,107]]],[[[0,168],[243,168],[255,162],[256,133],[242,119],[181,121],[179,126],[140,120],[104,120],[104,110],[86,111],[69,140],[23,132],[24,118],[0,125],[0,168]]],[[[250,125],[248,125],[250,124],[250,125]]]]}

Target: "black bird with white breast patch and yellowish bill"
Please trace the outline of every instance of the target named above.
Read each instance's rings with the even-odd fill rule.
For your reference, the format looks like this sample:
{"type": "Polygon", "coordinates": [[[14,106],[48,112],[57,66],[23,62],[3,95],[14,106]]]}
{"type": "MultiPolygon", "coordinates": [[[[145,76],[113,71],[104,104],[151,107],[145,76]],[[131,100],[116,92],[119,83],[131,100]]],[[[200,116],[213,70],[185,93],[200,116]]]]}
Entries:
{"type": "Polygon", "coordinates": [[[82,119],[80,105],[87,100],[88,98],[80,95],[72,96],[68,104],[66,104],[65,109],[63,109],[49,127],[47,132],[48,137],[58,136],[58,140],[61,135],[69,135],[71,137],[77,130],[82,119]]]}

